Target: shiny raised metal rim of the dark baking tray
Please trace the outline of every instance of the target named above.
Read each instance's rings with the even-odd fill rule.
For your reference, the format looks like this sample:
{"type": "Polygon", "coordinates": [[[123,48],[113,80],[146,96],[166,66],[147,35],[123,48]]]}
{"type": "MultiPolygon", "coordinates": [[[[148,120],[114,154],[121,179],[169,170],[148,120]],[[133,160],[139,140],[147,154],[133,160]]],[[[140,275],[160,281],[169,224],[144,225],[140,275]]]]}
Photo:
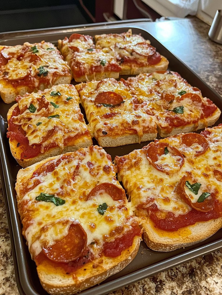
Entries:
{"type": "MultiPolygon", "coordinates": [[[[136,20],[137,21],[137,20],[136,20]]],[[[145,22],[138,22],[137,24],[132,24],[132,20],[127,20],[127,21],[118,21],[118,22],[112,22],[111,24],[107,24],[107,23],[97,23],[97,24],[86,24],[86,25],[80,25],[80,26],[75,26],[75,29],[73,29],[73,32],[75,31],[80,31],[81,28],[83,29],[89,29],[93,31],[93,30],[97,30],[97,29],[114,29],[114,28],[125,28],[125,27],[131,27],[131,28],[137,28],[140,30],[144,30],[145,32],[148,32],[154,39],[156,39],[148,30],[146,30],[144,27],[140,27],[139,24],[144,24],[145,22]],[[115,23],[115,24],[114,24],[115,23]],[[118,25],[117,25],[118,24],[118,25]],[[128,25],[127,25],[128,24],[128,25]],[[77,30],[78,29],[78,30],[77,30]]],[[[55,27],[55,28],[46,28],[46,29],[37,29],[37,30],[24,30],[24,31],[13,31],[13,32],[6,32],[4,34],[8,35],[11,33],[25,33],[25,32],[36,32],[37,33],[39,31],[44,31],[47,30],[47,34],[53,29],[57,29],[57,31],[59,31],[60,29],[64,29],[64,28],[68,28],[70,29],[70,27],[73,26],[66,26],[66,27],[55,27]]],[[[66,32],[66,31],[65,31],[66,32]]],[[[69,31],[67,31],[69,32],[69,31]]],[[[56,32],[53,32],[56,33],[56,32]]],[[[0,38],[1,38],[0,34],[0,38]]],[[[37,34],[33,34],[33,35],[27,35],[27,37],[31,37],[37,34]]],[[[24,37],[24,35],[18,35],[15,36],[14,38],[10,38],[10,40],[12,39],[17,39],[19,37],[24,37]]],[[[158,39],[156,39],[157,41],[159,41],[158,39]]],[[[0,39],[1,42],[1,39],[0,39]]],[[[161,43],[161,42],[160,42],[161,43]]],[[[162,43],[161,43],[162,45],[162,43]]],[[[164,46],[164,45],[162,45],[164,46]]],[[[164,46],[165,47],[165,46],[164,46]]],[[[165,47],[167,49],[167,47],[165,47]]],[[[167,49],[168,50],[168,49],[167,49]]],[[[170,51],[170,50],[168,50],[170,51]]],[[[179,58],[177,58],[171,51],[170,53],[177,59],[180,60],[179,58]]],[[[216,91],[214,91],[213,89],[211,89],[210,86],[208,86],[207,83],[205,83],[205,81],[203,81],[193,70],[191,70],[187,65],[185,65],[185,63],[183,63],[181,60],[180,62],[183,64],[183,66],[185,66],[190,72],[193,73],[193,75],[195,75],[200,81],[201,83],[203,83],[205,86],[207,86],[207,88],[210,88],[210,90],[221,99],[221,96],[219,96],[219,94],[216,93],[216,91]]],[[[16,281],[17,281],[17,286],[19,289],[19,293],[21,295],[39,295],[39,293],[36,293],[34,291],[34,293],[32,292],[32,290],[30,290],[30,286],[24,286],[24,288],[22,287],[21,284],[21,277],[23,277],[23,281],[29,281],[29,279],[27,278],[26,274],[24,273],[24,269],[22,268],[21,265],[19,265],[18,263],[18,256],[21,255],[21,253],[17,253],[17,248],[15,247],[15,240],[19,240],[19,227],[18,227],[18,223],[17,223],[17,218],[16,218],[16,214],[17,214],[17,206],[13,207],[13,204],[10,204],[9,199],[8,199],[8,194],[10,195],[10,193],[12,192],[12,190],[14,189],[14,186],[11,190],[11,180],[9,177],[9,171],[8,171],[8,167],[7,167],[7,162],[8,159],[6,157],[6,151],[5,151],[5,146],[4,146],[4,142],[3,142],[3,134],[5,134],[5,122],[4,119],[0,116],[0,128],[1,128],[1,132],[0,132],[0,155],[1,155],[1,168],[0,168],[0,173],[1,173],[1,178],[2,178],[2,187],[3,187],[3,195],[4,195],[4,201],[5,201],[5,205],[6,205],[6,212],[7,212],[7,218],[8,218],[8,224],[9,224],[9,220],[10,222],[13,220],[14,222],[16,222],[16,228],[14,229],[13,226],[11,224],[9,224],[9,232],[10,232],[10,239],[11,239],[11,244],[12,244],[12,252],[13,252],[13,260],[14,260],[14,266],[15,266],[15,271],[18,275],[18,277],[16,276],[16,281]],[[3,124],[2,124],[3,122],[3,124]],[[4,126],[4,131],[3,131],[3,127],[4,126]],[[9,212],[9,217],[8,217],[8,212],[9,212]],[[13,239],[12,239],[13,237],[13,239]],[[15,258],[16,257],[16,258],[15,258]],[[31,293],[29,292],[31,291],[31,293]]],[[[19,243],[20,244],[20,243],[19,243]]],[[[103,285],[99,285],[99,286],[93,286],[90,289],[86,289],[84,291],[81,291],[81,294],[83,295],[93,295],[95,294],[95,292],[99,292],[97,294],[103,295],[103,294],[107,294],[108,292],[114,291],[116,289],[119,289],[123,286],[126,286],[127,284],[131,284],[134,283],[136,281],[142,280],[143,278],[146,278],[148,276],[152,276],[158,272],[162,272],[165,271],[166,269],[175,267],[179,264],[185,263],[191,259],[200,257],[202,255],[206,255],[208,253],[211,253],[213,251],[219,250],[220,248],[222,248],[222,238],[214,241],[214,242],[210,242],[206,245],[200,246],[198,248],[189,250],[189,251],[185,251],[184,253],[178,254],[176,256],[173,256],[171,258],[167,258],[165,260],[162,260],[160,262],[154,263],[152,265],[149,265],[147,267],[144,267],[138,271],[134,271],[128,275],[122,276],[120,278],[114,279],[112,281],[106,282],[103,285]],[[157,267],[158,266],[158,267],[157,267]],[[156,270],[155,270],[156,268],[156,270]]],[[[21,259],[21,258],[20,258],[21,259]]],[[[24,257],[22,258],[24,259],[24,257]]]]}

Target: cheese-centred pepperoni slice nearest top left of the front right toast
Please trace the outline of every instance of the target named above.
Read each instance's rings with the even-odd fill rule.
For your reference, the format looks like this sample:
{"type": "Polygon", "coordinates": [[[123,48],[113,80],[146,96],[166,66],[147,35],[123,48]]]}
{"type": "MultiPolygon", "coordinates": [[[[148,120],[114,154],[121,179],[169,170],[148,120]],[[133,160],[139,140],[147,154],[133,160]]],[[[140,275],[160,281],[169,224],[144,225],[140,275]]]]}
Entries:
{"type": "MultiPolygon", "coordinates": [[[[166,157],[168,156],[166,155],[166,157]]],[[[184,164],[184,158],[180,151],[166,142],[150,144],[147,149],[147,159],[154,168],[166,174],[178,172],[184,164]],[[167,163],[165,158],[159,159],[167,151],[172,159],[171,163],[167,163]]]]}

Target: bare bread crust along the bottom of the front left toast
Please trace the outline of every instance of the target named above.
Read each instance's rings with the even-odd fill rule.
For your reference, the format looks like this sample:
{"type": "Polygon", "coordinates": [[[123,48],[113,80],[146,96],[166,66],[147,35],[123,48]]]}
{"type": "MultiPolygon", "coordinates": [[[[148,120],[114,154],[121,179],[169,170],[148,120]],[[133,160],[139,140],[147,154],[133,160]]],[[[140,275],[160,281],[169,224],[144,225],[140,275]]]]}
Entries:
{"type": "Polygon", "coordinates": [[[116,258],[102,257],[78,269],[66,273],[62,268],[55,268],[47,262],[37,266],[38,276],[43,288],[52,295],[71,295],[99,284],[109,276],[125,268],[137,255],[140,237],[135,237],[133,245],[122,251],[116,258]]]}

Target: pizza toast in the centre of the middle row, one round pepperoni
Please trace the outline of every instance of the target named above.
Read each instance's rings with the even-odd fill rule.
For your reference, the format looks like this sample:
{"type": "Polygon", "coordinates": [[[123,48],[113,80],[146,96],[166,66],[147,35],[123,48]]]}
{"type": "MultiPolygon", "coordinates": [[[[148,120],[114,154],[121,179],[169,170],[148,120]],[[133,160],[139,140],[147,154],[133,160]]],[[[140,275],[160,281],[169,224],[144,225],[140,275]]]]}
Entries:
{"type": "Polygon", "coordinates": [[[134,110],[134,98],[124,80],[113,78],[76,85],[93,136],[103,147],[115,147],[157,136],[153,117],[134,110]]]}

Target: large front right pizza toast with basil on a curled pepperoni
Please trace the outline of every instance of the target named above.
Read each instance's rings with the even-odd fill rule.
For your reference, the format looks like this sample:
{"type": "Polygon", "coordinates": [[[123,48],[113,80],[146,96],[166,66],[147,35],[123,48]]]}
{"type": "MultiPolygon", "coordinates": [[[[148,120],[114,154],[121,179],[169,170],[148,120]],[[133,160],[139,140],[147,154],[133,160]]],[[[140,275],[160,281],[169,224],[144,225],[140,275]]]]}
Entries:
{"type": "Polygon", "coordinates": [[[190,246],[222,227],[221,134],[218,125],[116,157],[118,180],[152,250],[190,246]]]}

